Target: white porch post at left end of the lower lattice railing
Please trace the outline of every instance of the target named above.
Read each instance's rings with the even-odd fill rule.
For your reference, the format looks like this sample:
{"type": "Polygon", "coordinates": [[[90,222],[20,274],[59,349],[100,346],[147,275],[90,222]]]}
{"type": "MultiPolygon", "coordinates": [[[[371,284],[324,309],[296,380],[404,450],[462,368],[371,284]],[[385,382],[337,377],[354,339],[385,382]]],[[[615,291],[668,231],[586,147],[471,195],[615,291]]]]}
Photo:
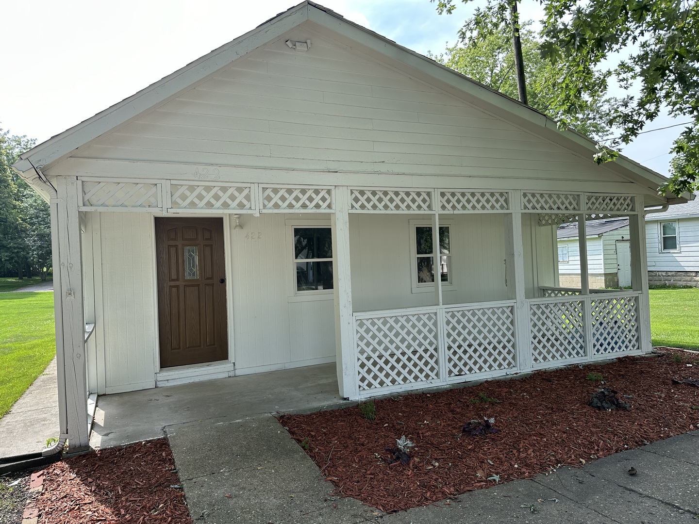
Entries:
{"type": "Polygon", "coordinates": [[[333,289],[335,294],[335,341],[338,388],[344,398],[359,397],[352,318],[352,277],[349,265],[349,189],[335,188],[332,216],[333,289]]]}

